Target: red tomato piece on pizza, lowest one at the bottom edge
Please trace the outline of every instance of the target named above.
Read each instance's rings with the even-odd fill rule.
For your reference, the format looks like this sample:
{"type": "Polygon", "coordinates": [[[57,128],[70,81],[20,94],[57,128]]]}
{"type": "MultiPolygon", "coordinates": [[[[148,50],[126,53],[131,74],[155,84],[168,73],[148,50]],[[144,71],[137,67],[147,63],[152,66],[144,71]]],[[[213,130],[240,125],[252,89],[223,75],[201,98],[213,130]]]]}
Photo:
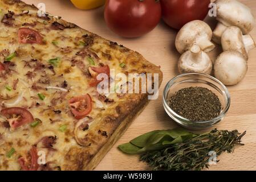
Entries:
{"type": "Polygon", "coordinates": [[[23,171],[37,171],[39,168],[37,149],[35,146],[32,146],[30,149],[30,156],[30,167],[27,167],[26,160],[24,158],[21,157],[18,159],[19,165],[21,165],[23,171]]]}

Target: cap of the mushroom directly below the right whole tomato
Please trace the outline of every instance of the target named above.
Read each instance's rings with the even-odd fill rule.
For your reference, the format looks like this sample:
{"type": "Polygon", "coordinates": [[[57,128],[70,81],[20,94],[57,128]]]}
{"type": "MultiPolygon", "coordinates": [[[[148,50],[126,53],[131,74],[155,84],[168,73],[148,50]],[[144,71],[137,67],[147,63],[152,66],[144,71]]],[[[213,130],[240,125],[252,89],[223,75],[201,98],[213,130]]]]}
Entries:
{"type": "Polygon", "coordinates": [[[178,32],[175,46],[178,52],[184,53],[188,51],[197,40],[200,41],[204,39],[204,42],[205,40],[210,42],[212,36],[212,29],[207,23],[201,20],[193,20],[192,22],[186,23],[178,32]]]}

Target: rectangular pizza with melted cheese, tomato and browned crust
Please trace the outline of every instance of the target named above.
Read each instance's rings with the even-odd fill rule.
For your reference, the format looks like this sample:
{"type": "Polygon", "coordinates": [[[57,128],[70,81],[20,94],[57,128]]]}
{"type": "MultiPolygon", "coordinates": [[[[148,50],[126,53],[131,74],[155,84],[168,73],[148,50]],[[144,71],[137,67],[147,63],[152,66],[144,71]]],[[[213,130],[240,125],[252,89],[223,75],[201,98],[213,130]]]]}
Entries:
{"type": "Polygon", "coordinates": [[[0,0],[0,11],[0,170],[94,169],[160,68],[34,5],[0,0]]]}

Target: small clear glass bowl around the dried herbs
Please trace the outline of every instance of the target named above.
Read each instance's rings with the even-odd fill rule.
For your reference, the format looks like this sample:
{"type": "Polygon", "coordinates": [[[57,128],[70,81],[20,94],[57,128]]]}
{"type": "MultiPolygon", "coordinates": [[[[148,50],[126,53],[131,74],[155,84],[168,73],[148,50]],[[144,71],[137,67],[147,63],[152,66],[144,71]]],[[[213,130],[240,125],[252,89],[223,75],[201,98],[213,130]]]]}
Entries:
{"type": "Polygon", "coordinates": [[[226,86],[216,78],[209,75],[202,74],[202,73],[186,73],[186,74],[182,74],[177,77],[174,77],[172,80],[170,80],[166,84],[164,88],[163,100],[164,100],[164,109],[166,113],[169,115],[169,117],[172,118],[175,122],[177,122],[178,125],[181,125],[187,129],[192,129],[192,130],[205,129],[220,122],[222,119],[224,119],[230,106],[230,94],[226,86]],[[220,99],[222,108],[221,108],[221,113],[216,118],[213,118],[209,121],[191,121],[189,119],[181,117],[180,115],[175,113],[172,109],[170,109],[170,107],[167,104],[167,101],[169,100],[169,98],[173,94],[175,94],[178,90],[187,88],[190,86],[193,86],[193,87],[201,86],[204,88],[208,88],[218,96],[218,98],[220,99]]]}

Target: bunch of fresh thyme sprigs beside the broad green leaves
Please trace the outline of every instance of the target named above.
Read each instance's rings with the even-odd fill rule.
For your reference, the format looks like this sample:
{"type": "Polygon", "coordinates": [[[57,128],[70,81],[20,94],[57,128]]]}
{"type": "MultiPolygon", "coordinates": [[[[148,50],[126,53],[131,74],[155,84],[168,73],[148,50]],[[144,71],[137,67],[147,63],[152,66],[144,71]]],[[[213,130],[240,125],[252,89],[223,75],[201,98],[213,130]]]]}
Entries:
{"type": "Polygon", "coordinates": [[[209,167],[210,151],[216,152],[217,156],[225,151],[233,152],[235,145],[243,145],[241,138],[245,134],[246,131],[239,134],[237,130],[214,129],[163,150],[145,152],[141,155],[141,160],[155,171],[200,171],[209,167]]]}

